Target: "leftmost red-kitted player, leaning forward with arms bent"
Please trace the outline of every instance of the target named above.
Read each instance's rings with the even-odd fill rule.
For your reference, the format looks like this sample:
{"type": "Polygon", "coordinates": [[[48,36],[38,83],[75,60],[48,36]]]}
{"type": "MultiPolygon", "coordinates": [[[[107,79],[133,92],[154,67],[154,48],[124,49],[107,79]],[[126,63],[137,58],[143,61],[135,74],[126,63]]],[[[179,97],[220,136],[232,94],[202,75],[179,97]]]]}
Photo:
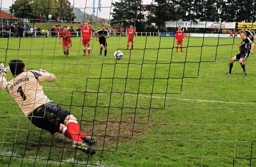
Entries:
{"type": "MultiPolygon", "coordinates": [[[[68,57],[68,52],[69,52],[69,47],[72,46],[72,40],[71,40],[71,33],[68,31],[67,26],[64,26],[64,29],[62,32],[60,32],[59,35],[59,43],[60,43],[60,38],[62,37],[62,47],[63,47],[63,53],[68,57]]],[[[60,43],[61,45],[61,43],[60,43]]]]}

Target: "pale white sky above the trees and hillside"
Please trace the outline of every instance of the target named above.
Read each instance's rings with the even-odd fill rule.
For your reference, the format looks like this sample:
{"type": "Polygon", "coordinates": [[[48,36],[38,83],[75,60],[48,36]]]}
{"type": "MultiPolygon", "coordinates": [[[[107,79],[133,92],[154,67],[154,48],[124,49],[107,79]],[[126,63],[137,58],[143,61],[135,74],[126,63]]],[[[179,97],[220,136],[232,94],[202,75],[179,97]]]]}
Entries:
{"type": "MultiPolygon", "coordinates": [[[[112,12],[113,7],[111,7],[111,2],[116,2],[118,0],[101,0],[101,12],[98,10],[99,0],[95,0],[95,13],[94,15],[101,18],[110,18],[110,12],[112,12]]],[[[153,0],[143,0],[143,4],[150,4],[153,0]]],[[[7,8],[11,6],[15,0],[0,0],[0,8],[7,8]]],[[[69,0],[74,8],[80,8],[83,12],[88,14],[93,13],[93,0],[69,0]]]]}

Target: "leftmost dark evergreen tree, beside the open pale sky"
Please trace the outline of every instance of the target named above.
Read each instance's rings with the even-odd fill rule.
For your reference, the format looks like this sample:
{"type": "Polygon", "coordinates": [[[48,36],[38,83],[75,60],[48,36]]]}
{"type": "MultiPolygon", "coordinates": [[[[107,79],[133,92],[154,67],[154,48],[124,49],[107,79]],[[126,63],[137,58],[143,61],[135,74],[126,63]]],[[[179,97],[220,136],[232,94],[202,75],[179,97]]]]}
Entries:
{"type": "Polygon", "coordinates": [[[112,3],[113,12],[111,24],[120,26],[136,26],[136,31],[144,31],[144,6],[142,0],[120,0],[112,3]]]}

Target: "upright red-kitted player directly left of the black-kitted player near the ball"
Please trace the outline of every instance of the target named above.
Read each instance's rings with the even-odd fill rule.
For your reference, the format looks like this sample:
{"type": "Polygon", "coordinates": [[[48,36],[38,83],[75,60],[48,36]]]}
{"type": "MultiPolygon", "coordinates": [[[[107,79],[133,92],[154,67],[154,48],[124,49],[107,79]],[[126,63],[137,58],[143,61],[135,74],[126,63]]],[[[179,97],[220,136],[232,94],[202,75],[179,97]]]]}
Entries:
{"type": "Polygon", "coordinates": [[[92,27],[88,26],[88,21],[84,21],[84,26],[81,27],[81,40],[84,45],[84,56],[86,56],[86,45],[88,49],[88,56],[90,56],[90,40],[92,40],[92,27]]]}

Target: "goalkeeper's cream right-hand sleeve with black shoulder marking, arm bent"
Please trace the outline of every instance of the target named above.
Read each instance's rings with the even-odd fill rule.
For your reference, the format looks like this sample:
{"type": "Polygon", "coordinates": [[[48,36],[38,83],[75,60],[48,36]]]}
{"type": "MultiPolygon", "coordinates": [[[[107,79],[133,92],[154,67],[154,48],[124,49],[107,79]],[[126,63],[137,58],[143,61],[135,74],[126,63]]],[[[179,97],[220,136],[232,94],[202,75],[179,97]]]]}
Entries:
{"type": "Polygon", "coordinates": [[[42,81],[42,82],[54,82],[56,81],[56,76],[52,73],[47,72],[46,70],[31,70],[29,71],[31,72],[34,77],[36,78],[36,80],[38,81],[42,81]]]}

